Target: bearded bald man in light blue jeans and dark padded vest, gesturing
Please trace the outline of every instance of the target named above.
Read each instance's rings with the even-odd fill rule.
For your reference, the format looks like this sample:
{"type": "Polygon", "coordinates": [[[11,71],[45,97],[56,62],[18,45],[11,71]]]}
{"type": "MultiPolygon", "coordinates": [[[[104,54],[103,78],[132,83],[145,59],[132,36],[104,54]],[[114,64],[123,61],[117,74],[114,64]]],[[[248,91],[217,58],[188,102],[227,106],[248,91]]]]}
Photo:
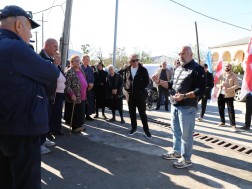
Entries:
{"type": "Polygon", "coordinates": [[[205,72],[193,59],[192,49],[182,47],[179,53],[181,66],[175,69],[171,81],[156,81],[171,89],[171,128],[173,132],[173,150],[162,154],[165,159],[178,159],[175,168],[192,165],[193,130],[198,105],[198,97],[206,90],[205,72]]]}

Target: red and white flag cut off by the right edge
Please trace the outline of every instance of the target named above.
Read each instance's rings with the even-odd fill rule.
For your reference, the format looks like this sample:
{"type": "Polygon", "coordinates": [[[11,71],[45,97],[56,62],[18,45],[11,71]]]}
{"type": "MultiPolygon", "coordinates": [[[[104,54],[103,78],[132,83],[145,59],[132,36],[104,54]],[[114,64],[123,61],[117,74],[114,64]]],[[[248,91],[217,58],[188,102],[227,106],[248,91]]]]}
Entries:
{"type": "Polygon", "coordinates": [[[252,37],[249,39],[248,58],[243,69],[245,73],[242,81],[240,99],[244,99],[248,93],[252,92],[252,37]]]}

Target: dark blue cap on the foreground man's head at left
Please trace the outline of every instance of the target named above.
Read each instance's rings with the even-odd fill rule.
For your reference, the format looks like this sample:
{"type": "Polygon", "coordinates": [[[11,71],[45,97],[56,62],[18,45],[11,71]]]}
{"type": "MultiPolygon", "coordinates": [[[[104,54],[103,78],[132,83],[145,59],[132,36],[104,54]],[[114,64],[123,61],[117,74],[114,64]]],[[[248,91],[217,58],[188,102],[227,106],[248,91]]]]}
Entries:
{"type": "Polygon", "coordinates": [[[4,9],[0,10],[0,20],[11,17],[11,16],[26,17],[30,21],[32,29],[40,26],[38,23],[32,20],[31,11],[24,11],[21,7],[18,7],[16,5],[8,5],[4,7],[4,9]]]}

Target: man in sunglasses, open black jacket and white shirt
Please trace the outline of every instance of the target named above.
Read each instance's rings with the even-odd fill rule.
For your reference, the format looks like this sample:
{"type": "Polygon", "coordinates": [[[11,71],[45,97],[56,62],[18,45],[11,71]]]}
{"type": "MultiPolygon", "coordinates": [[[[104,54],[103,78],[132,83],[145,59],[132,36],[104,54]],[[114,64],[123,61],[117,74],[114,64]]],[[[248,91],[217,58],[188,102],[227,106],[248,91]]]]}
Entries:
{"type": "Polygon", "coordinates": [[[146,87],[149,84],[149,74],[146,68],[139,63],[138,55],[133,54],[129,58],[129,64],[124,71],[125,97],[129,106],[131,130],[129,135],[137,132],[136,108],[138,109],[145,136],[151,138],[146,115],[146,87]]]}

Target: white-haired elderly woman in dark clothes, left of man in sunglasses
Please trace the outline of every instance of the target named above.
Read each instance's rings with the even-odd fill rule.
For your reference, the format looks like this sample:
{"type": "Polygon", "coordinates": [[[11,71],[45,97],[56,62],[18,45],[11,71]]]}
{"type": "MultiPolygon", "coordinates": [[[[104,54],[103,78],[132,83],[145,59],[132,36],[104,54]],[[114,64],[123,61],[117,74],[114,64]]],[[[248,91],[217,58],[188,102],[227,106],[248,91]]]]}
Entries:
{"type": "Polygon", "coordinates": [[[115,68],[113,65],[108,66],[109,74],[107,76],[107,89],[108,89],[108,99],[109,108],[112,110],[113,117],[109,120],[110,122],[115,121],[115,111],[118,110],[121,123],[125,123],[123,119],[123,84],[122,77],[120,74],[115,73],[115,68]]]}

